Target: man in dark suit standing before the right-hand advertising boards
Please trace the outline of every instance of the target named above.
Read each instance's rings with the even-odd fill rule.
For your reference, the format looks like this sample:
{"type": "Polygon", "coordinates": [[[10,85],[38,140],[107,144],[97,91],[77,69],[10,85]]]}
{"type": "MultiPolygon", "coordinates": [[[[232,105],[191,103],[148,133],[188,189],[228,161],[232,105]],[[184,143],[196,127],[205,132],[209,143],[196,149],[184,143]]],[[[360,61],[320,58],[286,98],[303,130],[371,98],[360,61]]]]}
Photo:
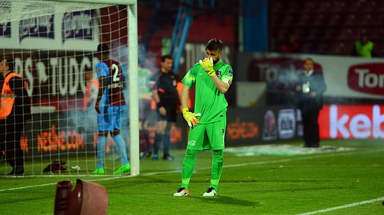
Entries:
{"type": "Polygon", "coordinates": [[[296,85],[299,94],[298,108],[302,112],[304,147],[319,147],[318,114],[323,108],[323,93],[326,89],[323,74],[314,71],[313,60],[306,58],[304,72],[299,75],[296,85]]]}

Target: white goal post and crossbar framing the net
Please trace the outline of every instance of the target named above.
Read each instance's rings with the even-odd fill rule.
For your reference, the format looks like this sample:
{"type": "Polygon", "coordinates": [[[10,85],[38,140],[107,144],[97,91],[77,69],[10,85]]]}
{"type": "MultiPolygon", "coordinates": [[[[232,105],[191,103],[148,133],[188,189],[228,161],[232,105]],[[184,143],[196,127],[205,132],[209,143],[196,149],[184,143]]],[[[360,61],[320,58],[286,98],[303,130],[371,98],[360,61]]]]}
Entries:
{"type": "MultiPolygon", "coordinates": [[[[127,10],[129,141],[131,175],[140,174],[139,109],[138,109],[138,8],[137,0],[6,0],[1,4],[0,24],[80,10],[92,10],[112,5],[124,5],[127,10]]],[[[15,31],[14,29],[12,31],[15,31]]],[[[0,39],[1,40],[1,39],[0,39]]],[[[0,42],[1,45],[1,42],[0,42]]],[[[24,48],[24,47],[22,47],[24,48]]],[[[17,48],[16,48],[17,49],[17,48]]],[[[20,47],[18,49],[21,49],[20,47]]],[[[28,47],[27,47],[28,49],[28,47]]],[[[94,47],[96,49],[96,47],[94,47]]]]}

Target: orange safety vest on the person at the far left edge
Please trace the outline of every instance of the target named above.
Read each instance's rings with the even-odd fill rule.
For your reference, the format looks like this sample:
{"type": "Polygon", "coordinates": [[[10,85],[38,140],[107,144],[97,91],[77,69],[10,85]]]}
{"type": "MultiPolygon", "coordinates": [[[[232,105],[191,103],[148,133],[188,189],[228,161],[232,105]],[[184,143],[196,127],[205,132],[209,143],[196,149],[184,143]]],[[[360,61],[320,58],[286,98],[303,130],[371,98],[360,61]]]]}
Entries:
{"type": "MultiPolygon", "coordinates": [[[[3,89],[1,90],[1,98],[0,98],[0,119],[6,119],[13,109],[13,103],[15,102],[15,95],[9,86],[9,79],[13,77],[22,78],[19,74],[12,72],[8,74],[8,76],[4,80],[3,89]]],[[[25,83],[24,83],[24,87],[25,87],[25,83]]]]}

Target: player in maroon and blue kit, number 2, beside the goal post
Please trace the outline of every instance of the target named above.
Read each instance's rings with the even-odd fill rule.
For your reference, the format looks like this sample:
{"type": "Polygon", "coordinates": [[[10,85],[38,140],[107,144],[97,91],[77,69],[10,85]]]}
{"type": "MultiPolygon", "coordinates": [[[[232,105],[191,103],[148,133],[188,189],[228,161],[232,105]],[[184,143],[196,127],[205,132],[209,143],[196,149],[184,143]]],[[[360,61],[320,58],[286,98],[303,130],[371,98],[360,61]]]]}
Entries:
{"type": "Polygon", "coordinates": [[[98,143],[97,143],[97,169],[92,172],[96,175],[104,175],[105,147],[108,133],[111,134],[117,152],[121,158],[121,166],[114,175],[127,173],[131,169],[126,155],[126,143],[120,134],[122,117],[126,109],[123,95],[123,70],[119,62],[109,58],[109,48],[105,43],[97,47],[100,62],[96,65],[99,88],[95,109],[98,113],[98,143]],[[103,98],[104,102],[101,102],[103,98]]]}

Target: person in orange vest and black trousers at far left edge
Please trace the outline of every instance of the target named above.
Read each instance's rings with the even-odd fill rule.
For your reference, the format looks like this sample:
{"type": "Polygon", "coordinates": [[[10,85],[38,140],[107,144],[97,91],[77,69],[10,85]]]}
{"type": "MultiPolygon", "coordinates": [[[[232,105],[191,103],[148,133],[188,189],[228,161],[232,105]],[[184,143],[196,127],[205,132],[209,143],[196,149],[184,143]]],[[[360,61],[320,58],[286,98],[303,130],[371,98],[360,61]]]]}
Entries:
{"type": "Polygon", "coordinates": [[[31,104],[27,93],[27,83],[13,72],[12,58],[4,58],[0,63],[0,152],[5,152],[6,161],[12,166],[7,175],[24,174],[24,157],[20,138],[24,132],[24,122],[31,121],[31,104]]]}

